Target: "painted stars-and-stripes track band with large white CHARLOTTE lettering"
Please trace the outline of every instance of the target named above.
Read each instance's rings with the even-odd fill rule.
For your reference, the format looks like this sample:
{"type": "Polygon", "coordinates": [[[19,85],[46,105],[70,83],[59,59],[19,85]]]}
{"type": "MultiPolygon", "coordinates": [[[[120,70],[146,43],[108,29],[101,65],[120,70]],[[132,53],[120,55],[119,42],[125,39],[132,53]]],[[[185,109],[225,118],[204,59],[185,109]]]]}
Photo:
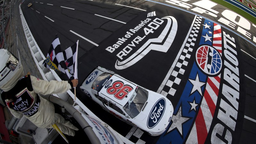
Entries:
{"type": "MultiPolygon", "coordinates": [[[[238,60],[238,39],[210,20],[198,20],[203,24],[199,25],[198,22],[192,26],[201,27],[198,27],[202,30],[201,36],[198,35],[197,39],[193,37],[196,42],[188,45],[188,51],[196,51],[193,53],[195,56],[183,59],[192,67],[188,68],[189,64],[176,65],[174,69],[178,70],[178,67],[188,73],[184,71],[183,75],[169,77],[169,84],[177,78],[186,83],[182,92],[166,94],[171,101],[179,95],[180,99],[174,108],[169,128],[160,136],[157,144],[233,143],[241,132],[244,101],[240,98],[244,93],[239,77],[241,64],[238,60]],[[188,79],[184,76],[188,76],[188,79]],[[220,139],[220,136],[225,138],[220,139]]],[[[186,49],[184,47],[181,50],[187,52],[186,49]]],[[[184,58],[182,54],[179,57],[184,58]]],[[[183,88],[183,85],[174,83],[171,86],[166,83],[164,89],[171,87],[170,91],[176,91],[183,88]]]]}

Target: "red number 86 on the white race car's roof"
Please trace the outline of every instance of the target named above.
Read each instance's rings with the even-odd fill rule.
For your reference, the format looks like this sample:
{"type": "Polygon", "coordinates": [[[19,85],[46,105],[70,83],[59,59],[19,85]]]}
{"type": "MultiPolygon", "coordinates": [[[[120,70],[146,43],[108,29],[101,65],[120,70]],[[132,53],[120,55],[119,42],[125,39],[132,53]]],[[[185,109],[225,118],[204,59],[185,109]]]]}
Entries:
{"type": "Polygon", "coordinates": [[[133,88],[125,84],[121,81],[116,81],[112,84],[112,86],[108,87],[108,94],[114,95],[118,100],[122,100],[129,92],[131,92],[133,88]]]}

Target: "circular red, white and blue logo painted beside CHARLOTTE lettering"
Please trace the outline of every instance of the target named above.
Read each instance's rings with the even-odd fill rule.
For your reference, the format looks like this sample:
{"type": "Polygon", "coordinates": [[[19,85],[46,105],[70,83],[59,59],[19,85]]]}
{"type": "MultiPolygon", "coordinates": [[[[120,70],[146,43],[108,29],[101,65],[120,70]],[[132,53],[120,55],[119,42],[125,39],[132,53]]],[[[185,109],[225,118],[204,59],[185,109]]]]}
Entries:
{"type": "Polygon", "coordinates": [[[220,53],[208,45],[200,46],[196,51],[196,62],[206,74],[216,75],[222,67],[220,53]]]}

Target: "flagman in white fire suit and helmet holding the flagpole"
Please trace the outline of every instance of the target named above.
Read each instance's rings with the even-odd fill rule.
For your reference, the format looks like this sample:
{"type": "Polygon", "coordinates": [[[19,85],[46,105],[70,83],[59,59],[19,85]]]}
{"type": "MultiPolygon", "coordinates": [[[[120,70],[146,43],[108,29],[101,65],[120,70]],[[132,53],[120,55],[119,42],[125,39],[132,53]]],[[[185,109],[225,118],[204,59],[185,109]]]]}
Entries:
{"type": "Polygon", "coordinates": [[[39,94],[63,93],[76,87],[77,79],[68,81],[44,81],[34,76],[25,76],[18,58],[6,49],[0,49],[0,89],[2,99],[16,118],[25,116],[40,128],[52,128],[56,124],[60,131],[74,136],[78,130],[73,124],[54,112],[54,106],[39,94]]]}

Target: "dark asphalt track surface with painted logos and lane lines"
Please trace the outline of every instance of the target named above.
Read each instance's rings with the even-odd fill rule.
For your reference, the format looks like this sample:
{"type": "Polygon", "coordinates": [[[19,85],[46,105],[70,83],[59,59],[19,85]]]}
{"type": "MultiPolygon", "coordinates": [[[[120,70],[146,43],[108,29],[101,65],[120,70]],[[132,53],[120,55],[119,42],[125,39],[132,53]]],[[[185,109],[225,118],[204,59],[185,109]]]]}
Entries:
{"type": "Polygon", "coordinates": [[[56,34],[63,50],[79,40],[80,83],[93,68],[101,66],[171,100],[172,120],[166,132],[153,137],[77,92],[85,106],[132,142],[254,143],[256,26],[249,22],[248,28],[239,16],[233,18],[233,25],[227,25],[221,18],[234,13],[209,2],[205,4],[208,14],[198,13],[191,10],[201,6],[195,2],[177,6],[144,0],[26,0],[21,9],[45,56],[56,34]],[[33,4],[30,8],[29,3],[33,4]],[[171,22],[168,27],[167,21],[171,22]],[[154,40],[161,36],[160,42],[154,40]]]}

